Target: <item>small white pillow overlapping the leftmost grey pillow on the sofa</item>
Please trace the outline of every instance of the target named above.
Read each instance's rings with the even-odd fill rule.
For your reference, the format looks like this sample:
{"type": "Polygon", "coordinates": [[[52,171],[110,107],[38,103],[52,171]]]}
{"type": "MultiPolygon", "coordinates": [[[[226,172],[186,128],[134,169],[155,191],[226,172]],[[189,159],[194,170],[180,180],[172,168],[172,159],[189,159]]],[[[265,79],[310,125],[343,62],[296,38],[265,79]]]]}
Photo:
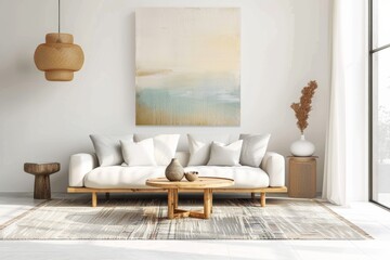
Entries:
{"type": "Polygon", "coordinates": [[[134,143],[120,140],[125,162],[128,166],[155,166],[153,139],[134,143]]]}

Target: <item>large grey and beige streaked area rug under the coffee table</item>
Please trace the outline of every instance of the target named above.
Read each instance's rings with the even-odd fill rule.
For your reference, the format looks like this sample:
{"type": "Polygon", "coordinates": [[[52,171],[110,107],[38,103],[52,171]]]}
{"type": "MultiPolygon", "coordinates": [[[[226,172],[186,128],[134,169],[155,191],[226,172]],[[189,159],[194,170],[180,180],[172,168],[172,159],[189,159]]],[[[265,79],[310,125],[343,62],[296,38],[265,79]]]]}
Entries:
{"type": "MultiPolygon", "coordinates": [[[[214,198],[208,220],[168,220],[159,198],[53,199],[0,225],[0,239],[367,239],[364,231],[315,200],[214,198]]],[[[179,208],[202,209],[184,198],[179,208]]]]}

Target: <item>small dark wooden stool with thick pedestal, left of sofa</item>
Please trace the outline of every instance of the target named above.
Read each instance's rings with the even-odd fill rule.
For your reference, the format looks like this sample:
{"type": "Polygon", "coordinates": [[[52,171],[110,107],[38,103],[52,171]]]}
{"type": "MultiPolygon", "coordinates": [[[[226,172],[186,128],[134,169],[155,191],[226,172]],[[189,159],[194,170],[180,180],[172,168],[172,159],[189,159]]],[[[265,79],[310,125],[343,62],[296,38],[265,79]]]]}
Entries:
{"type": "Polygon", "coordinates": [[[32,164],[26,162],[24,170],[35,176],[34,198],[50,199],[50,178],[49,176],[60,170],[60,162],[32,164]]]}

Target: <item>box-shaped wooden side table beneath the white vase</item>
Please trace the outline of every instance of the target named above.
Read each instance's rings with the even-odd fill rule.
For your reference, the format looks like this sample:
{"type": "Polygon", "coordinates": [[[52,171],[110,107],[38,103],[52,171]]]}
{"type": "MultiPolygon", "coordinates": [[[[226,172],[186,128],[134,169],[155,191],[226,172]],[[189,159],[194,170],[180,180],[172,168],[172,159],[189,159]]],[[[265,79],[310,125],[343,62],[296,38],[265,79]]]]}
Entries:
{"type": "Polygon", "coordinates": [[[289,156],[288,196],[314,198],[316,196],[316,158],[289,156]]]}

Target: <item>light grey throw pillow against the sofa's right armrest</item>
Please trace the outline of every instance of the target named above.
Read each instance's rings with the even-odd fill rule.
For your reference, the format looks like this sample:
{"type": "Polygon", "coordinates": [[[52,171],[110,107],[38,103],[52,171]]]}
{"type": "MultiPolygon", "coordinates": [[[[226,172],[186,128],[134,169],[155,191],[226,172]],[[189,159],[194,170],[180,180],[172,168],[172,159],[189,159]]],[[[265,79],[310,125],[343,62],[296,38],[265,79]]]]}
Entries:
{"type": "Polygon", "coordinates": [[[271,134],[240,134],[243,142],[239,164],[260,167],[265,155],[271,134]]]}

